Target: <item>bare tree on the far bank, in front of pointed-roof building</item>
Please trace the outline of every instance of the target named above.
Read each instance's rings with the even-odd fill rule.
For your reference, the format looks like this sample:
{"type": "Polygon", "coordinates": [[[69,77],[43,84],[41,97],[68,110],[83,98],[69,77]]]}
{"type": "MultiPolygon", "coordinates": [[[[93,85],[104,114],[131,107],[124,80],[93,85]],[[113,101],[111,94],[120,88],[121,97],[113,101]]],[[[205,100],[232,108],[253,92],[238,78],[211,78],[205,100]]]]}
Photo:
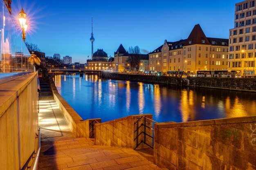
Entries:
{"type": "Polygon", "coordinates": [[[138,71],[139,70],[139,63],[140,63],[140,49],[139,46],[135,46],[134,48],[132,46],[128,49],[129,57],[127,59],[127,62],[130,64],[132,71],[138,71]]]}

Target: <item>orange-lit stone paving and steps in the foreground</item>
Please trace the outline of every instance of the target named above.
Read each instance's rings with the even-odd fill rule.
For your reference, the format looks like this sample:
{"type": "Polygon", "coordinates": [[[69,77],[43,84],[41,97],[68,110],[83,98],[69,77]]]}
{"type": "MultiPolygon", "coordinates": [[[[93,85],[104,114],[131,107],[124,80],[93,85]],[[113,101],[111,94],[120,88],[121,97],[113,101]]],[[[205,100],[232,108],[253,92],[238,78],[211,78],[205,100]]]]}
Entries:
{"type": "Polygon", "coordinates": [[[41,143],[38,170],[168,170],[130,148],[94,145],[74,138],[41,143]]]}

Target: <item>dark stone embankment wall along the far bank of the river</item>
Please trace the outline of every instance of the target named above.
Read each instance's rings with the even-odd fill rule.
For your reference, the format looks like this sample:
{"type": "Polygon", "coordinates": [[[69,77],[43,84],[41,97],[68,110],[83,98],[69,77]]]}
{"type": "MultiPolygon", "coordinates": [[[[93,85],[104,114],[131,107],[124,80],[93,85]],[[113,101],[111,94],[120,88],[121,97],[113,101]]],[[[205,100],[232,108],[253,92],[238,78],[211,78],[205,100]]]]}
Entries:
{"type": "Polygon", "coordinates": [[[256,92],[256,78],[170,77],[102,72],[102,78],[256,92]]]}

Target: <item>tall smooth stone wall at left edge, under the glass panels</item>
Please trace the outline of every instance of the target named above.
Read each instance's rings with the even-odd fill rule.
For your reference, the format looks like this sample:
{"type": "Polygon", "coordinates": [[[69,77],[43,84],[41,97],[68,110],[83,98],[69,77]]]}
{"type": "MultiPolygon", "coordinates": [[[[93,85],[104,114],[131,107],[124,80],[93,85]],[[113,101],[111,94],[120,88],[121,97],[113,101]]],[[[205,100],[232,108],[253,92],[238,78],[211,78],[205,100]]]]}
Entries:
{"type": "Polygon", "coordinates": [[[27,170],[39,148],[37,73],[0,89],[0,169],[27,170]]]}

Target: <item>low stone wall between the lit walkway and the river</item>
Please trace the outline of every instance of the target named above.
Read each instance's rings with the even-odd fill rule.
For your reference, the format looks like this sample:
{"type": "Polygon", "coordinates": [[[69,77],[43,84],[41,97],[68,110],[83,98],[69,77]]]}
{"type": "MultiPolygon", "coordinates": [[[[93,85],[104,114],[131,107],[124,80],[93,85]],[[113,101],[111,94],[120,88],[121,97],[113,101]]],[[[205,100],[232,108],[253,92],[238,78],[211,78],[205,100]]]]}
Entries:
{"type": "Polygon", "coordinates": [[[78,113],[63,99],[63,97],[58,93],[56,86],[54,84],[53,78],[49,77],[49,83],[52,88],[52,93],[54,100],[56,101],[58,107],[62,111],[65,120],[72,130],[75,137],[92,137],[92,132],[94,130],[94,124],[97,122],[101,123],[101,119],[87,119],[83,120],[78,113]],[[95,121],[96,120],[96,121],[95,121]]]}

